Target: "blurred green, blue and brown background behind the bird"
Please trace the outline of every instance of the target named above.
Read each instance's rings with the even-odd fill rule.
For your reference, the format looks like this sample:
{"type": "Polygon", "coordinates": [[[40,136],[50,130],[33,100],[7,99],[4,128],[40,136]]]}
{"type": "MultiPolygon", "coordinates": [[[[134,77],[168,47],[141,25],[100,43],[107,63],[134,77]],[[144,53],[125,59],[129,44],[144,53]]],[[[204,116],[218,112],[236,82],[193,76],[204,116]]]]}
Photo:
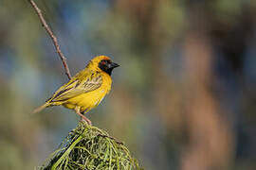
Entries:
{"type": "MultiPolygon", "coordinates": [[[[256,169],[256,1],[37,0],[72,75],[121,67],[90,111],[147,170],[256,169]]],[[[27,0],[0,1],[0,169],[33,169],[79,117],[29,112],[68,79],[27,0]]]]}

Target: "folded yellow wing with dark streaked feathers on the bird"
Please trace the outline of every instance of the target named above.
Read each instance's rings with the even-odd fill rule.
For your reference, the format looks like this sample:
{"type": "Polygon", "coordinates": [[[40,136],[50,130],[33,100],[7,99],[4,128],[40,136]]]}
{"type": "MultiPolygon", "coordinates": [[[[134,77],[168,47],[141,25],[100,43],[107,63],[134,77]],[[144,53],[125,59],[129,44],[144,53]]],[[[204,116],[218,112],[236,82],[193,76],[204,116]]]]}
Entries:
{"type": "Polygon", "coordinates": [[[46,102],[59,102],[88,93],[101,87],[102,77],[100,74],[79,74],[74,76],[67,84],[61,87],[46,102]]]}

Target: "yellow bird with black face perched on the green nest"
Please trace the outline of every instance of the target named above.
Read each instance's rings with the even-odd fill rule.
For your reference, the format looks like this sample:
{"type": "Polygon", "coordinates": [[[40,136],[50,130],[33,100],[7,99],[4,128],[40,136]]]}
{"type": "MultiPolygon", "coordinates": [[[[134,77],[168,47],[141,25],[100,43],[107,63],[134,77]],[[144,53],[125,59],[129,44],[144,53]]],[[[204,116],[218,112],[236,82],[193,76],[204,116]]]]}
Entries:
{"type": "Polygon", "coordinates": [[[32,111],[39,112],[52,106],[64,106],[81,116],[82,121],[92,125],[84,115],[100,105],[104,96],[110,92],[112,85],[111,74],[119,67],[107,56],[97,56],[91,59],[86,67],[60,87],[46,100],[46,103],[32,111]]]}

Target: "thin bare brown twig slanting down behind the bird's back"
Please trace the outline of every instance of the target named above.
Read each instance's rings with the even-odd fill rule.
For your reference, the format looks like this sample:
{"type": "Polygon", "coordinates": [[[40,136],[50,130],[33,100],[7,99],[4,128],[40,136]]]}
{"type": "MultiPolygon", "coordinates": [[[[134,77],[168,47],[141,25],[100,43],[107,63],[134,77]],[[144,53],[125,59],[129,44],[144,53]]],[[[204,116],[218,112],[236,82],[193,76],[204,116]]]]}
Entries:
{"type": "Polygon", "coordinates": [[[49,28],[49,26],[47,25],[46,23],[46,20],[41,12],[41,9],[37,7],[36,3],[33,1],[33,0],[28,0],[29,3],[31,4],[31,6],[35,9],[37,15],[39,16],[40,18],[40,21],[42,23],[42,26],[45,27],[46,29],[46,32],[48,33],[48,35],[50,36],[54,46],[55,46],[55,49],[56,49],[56,52],[59,54],[60,58],[62,59],[63,61],[63,64],[64,64],[64,70],[65,70],[65,75],[68,76],[69,79],[71,79],[71,74],[70,74],[70,71],[68,69],[68,65],[66,63],[66,59],[64,57],[64,54],[62,53],[61,51],[61,48],[60,48],[60,45],[58,43],[58,40],[56,38],[56,36],[53,34],[53,32],[51,31],[51,29],[49,28]]]}

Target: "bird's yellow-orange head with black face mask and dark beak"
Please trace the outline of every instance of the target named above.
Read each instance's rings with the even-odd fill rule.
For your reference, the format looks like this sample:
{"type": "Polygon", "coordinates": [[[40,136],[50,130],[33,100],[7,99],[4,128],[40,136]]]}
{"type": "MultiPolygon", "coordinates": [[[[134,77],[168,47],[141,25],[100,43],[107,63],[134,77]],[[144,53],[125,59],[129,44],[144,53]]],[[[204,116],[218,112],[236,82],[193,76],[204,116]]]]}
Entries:
{"type": "Polygon", "coordinates": [[[119,64],[112,62],[107,56],[97,56],[90,60],[88,67],[99,72],[105,72],[111,76],[113,69],[119,67],[119,64]]]}

